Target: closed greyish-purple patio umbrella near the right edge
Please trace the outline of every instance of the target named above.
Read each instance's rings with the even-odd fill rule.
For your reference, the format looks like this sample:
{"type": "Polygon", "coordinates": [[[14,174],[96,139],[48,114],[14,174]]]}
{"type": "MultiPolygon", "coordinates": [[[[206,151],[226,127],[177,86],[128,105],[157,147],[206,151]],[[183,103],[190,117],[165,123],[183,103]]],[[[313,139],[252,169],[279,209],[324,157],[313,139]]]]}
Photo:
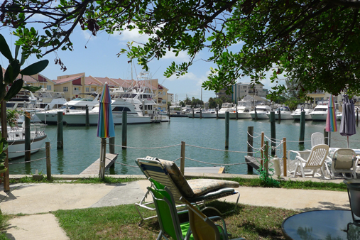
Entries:
{"type": "Polygon", "coordinates": [[[342,121],[340,123],[340,134],[347,136],[347,147],[349,148],[349,136],[356,133],[355,127],[355,107],[353,99],[349,99],[347,94],[344,95],[342,102],[342,121]]]}

